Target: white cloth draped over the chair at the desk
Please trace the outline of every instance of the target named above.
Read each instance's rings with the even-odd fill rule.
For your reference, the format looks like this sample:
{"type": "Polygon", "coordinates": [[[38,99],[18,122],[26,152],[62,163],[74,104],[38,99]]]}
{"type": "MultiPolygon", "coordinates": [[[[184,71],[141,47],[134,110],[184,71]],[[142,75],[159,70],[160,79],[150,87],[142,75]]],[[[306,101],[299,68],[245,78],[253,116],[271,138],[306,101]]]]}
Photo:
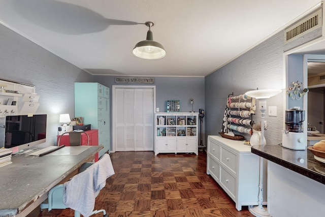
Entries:
{"type": "Polygon", "coordinates": [[[64,205],[88,217],[95,206],[96,192],[104,188],[106,179],[114,174],[111,158],[106,153],[101,160],[63,184],[64,205]]]}

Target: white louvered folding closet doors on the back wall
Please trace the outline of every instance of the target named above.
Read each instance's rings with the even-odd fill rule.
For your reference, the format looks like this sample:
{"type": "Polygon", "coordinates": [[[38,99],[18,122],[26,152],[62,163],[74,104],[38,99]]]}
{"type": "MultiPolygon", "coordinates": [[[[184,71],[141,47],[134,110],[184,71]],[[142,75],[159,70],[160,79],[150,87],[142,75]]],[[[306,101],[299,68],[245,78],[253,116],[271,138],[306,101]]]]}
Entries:
{"type": "Polygon", "coordinates": [[[153,150],[154,88],[116,88],[114,102],[115,150],[153,150]]]}

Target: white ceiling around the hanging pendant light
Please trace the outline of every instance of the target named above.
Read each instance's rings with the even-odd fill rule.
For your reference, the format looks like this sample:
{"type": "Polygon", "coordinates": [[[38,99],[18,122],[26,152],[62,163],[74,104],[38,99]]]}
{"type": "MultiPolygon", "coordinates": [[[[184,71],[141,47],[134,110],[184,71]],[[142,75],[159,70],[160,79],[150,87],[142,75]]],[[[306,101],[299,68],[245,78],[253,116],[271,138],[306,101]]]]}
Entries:
{"type": "Polygon", "coordinates": [[[92,75],[204,77],[320,0],[2,0],[0,23],[92,75]],[[166,56],[132,49],[146,38],[166,56]]]}

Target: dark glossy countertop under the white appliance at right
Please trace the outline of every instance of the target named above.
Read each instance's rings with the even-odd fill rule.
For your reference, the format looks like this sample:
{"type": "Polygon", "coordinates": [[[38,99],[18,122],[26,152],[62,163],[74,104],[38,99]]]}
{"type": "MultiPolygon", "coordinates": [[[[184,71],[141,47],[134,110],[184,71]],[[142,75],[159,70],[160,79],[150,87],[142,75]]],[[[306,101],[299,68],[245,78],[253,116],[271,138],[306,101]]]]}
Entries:
{"type": "Polygon", "coordinates": [[[314,154],[306,150],[291,150],[280,145],[253,145],[251,152],[325,184],[325,164],[314,159],[314,154]]]}

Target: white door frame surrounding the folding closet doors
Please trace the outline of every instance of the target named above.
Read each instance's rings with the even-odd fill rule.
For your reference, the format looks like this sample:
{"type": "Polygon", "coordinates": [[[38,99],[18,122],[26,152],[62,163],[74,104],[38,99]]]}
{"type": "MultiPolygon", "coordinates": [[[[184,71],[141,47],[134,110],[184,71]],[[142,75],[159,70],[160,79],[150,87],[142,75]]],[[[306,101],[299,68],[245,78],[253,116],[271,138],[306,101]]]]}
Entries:
{"type": "MultiPolygon", "coordinates": [[[[152,102],[152,105],[153,105],[152,119],[153,120],[154,120],[154,112],[155,112],[155,107],[156,107],[156,86],[155,85],[112,85],[112,150],[111,150],[111,152],[115,152],[115,150],[116,150],[116,138],[115,138],[115,128],[116,128],[115,94],[116,94],[116,89],[152,89],[153,90],[153,102],[152,102]]],[[[152,129],[152,134],[153,134],[153,130],[154,129],[152,129]]]]}

